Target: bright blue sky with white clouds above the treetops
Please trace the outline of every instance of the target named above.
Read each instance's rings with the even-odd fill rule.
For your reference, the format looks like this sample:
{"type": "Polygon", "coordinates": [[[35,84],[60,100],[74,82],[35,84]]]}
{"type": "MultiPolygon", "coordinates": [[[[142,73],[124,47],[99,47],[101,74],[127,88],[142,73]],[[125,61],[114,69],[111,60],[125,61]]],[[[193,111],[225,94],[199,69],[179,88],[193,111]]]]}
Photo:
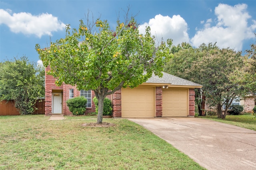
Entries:
{"type": "Polygon", "coordinates": [[[24,55],[37,62],[35,44],[48,47],[50,39],[64,38],[65,25],[77,28],[88,10],[115,27],[127,6],[141,33],[149,25],[152,35],[174,45],[217,42],[244,52],[256,42],[254,0],[0,0],[0,62],[24,55]]]}

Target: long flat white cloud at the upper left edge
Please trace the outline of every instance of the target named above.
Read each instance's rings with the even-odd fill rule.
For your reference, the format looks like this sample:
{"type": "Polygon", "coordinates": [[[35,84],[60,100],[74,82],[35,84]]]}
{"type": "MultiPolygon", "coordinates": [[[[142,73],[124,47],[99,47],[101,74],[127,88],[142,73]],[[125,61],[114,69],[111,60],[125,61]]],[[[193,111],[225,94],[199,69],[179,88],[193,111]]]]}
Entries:
{"type": "Polygon", "coordinates": [[[0,24],[6,24],[14,33],[34,34],[41,38],[42,35],[51,35],[53,31],[65,28],[65,24],[52,14],[33,16],[26,12],[11,13],[9,9],[0,9],[0,24]]]}

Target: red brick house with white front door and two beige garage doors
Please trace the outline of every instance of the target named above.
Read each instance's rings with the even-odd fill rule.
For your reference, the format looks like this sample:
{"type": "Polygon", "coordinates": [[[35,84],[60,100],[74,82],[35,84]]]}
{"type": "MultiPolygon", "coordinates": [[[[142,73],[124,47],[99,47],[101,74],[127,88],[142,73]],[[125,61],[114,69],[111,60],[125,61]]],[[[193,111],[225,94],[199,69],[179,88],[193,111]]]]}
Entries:
{"type": "MultiPolygon", "coordinates": [[[[47,67],[46,71],[50,68],[47,67]]],[[[45,115],[71,115],[66,101],[69,98],[84,96],[87,98],[86,113],[95,111],[92,90],[80,90],[63,84],[56,86],[55,79],[46,75],[45,115]]],[[[122,88],[108,98],[112,100],[113,117],[169,117],[194,116],[194,88],[200,84],[163,72],[163,77],[152,75],[145,83],[136,88],[122,88]]]]}

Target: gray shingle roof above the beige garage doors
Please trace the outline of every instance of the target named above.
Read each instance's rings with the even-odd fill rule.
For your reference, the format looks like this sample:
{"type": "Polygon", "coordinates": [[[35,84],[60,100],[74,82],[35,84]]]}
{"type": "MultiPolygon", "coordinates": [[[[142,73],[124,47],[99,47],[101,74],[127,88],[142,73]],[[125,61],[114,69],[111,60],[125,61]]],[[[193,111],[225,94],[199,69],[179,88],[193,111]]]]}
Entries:
{"type": "Polygon", "coordinates": [[[166,72],[162,72],[163,76],[160,78],[156,76],[154,73],[152,76],[146,81],[146,83],[166,83],[170,85],[178,85],[178,86],[202,86],[200,84],[185,80],[183,78],[173,76],[166,72]]]}

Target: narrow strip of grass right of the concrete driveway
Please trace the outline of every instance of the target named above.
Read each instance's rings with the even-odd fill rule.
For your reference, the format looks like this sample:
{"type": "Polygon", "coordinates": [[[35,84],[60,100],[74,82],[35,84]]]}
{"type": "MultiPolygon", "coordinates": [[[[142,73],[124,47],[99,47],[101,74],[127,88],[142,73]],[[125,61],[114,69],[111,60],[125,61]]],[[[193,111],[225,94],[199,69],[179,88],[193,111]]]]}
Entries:
{"type": "Polygon", "coordinates": [[[254,115],[226,115],[226,119],[217,118],[217,116],[198,116],[200,118],[211,119],[222,123],[244,127],[256,131],[256,117],[254,115]]]}

